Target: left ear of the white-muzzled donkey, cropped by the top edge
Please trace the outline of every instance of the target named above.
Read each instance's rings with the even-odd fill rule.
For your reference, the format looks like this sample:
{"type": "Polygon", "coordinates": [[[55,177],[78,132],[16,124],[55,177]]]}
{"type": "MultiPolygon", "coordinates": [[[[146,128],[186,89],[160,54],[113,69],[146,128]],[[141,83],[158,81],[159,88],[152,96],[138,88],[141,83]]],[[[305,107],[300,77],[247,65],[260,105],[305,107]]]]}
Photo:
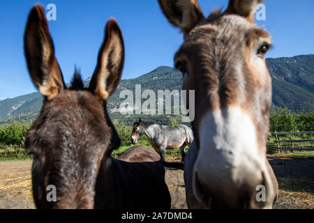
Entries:
{"type": "Polygon", "coordinates": [[[188,34],[201,20],[202,10],[197,0],[158,0],[167,20],[188,34]]]}

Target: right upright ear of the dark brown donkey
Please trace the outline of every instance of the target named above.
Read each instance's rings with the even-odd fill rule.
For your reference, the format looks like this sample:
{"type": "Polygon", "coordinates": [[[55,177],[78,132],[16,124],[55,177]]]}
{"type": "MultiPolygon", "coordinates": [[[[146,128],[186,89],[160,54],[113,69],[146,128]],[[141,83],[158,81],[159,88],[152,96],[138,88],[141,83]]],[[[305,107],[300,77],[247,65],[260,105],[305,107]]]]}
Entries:
{"type": "Polygon", "coordinates": [[[124,66],[124,40],[116,20],[111,18],[105,27],[105,40],[100,47],[97,66],[91,77],[89,91],[107,100],[117,89],[124,66]]]}

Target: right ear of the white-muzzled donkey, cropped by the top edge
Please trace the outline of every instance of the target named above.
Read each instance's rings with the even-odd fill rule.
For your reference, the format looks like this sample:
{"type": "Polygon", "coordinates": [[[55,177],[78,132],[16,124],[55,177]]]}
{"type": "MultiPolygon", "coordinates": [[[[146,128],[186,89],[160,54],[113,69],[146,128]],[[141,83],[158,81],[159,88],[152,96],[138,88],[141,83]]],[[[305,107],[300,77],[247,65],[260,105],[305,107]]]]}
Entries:
{"type": "Polygon", "coordinates": [[[237,14],[254,23],[256,6],[264,0],[230,0],[226,14],[237,14]]]}

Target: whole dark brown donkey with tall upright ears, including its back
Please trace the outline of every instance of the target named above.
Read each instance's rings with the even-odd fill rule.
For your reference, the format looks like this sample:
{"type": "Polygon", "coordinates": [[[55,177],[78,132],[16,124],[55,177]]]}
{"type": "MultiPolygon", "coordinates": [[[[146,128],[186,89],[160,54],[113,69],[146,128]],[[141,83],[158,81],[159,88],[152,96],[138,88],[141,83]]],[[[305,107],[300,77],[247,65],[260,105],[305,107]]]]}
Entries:
{"type": "Polygon", "coordinates": [[[160,156],[135,146],[111,157],[120,139],[107,115],[107,98],[117,88],[124,64],[124,42],[110,19],[88,89],[80,75],[70,89],[54,56],[45,10],[29,14],[24,51],[33,84],[44,96],[40,115],[27,133],[33,154],[33,198],[37,208],[170,208],[160,156]],[[47,201],[48,185],[57,201],[47,201]]]}

